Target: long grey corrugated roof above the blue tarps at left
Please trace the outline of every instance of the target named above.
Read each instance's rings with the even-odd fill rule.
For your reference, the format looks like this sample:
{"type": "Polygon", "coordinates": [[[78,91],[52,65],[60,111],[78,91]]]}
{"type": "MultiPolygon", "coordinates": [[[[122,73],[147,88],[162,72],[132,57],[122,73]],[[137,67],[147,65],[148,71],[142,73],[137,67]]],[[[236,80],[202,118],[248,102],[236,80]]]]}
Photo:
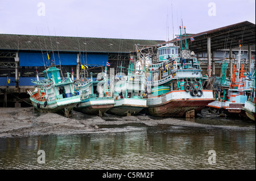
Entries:
{"type": "Polygon", "coordinates": [[[164,40],[0,34],[0,49],[63,52],[130,53],[134,44],[156,45],[164,40]]]}

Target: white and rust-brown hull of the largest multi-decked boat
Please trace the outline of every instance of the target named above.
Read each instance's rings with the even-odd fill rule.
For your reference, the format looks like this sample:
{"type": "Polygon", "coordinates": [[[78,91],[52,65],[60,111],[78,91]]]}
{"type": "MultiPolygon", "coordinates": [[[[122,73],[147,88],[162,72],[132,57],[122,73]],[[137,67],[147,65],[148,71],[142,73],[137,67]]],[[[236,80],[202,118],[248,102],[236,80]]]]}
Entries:
{"type": "Polygon", "coordinates": [[[146,98],[148,108],[145,109],[145,112],[151,116],[160,117],[185,117],[185,113],[191,110],[198,113],[207,104],[214,101],[211,90],[203,90],[203,92],[204,94],[200,97],[179,90],[146,98]]]}

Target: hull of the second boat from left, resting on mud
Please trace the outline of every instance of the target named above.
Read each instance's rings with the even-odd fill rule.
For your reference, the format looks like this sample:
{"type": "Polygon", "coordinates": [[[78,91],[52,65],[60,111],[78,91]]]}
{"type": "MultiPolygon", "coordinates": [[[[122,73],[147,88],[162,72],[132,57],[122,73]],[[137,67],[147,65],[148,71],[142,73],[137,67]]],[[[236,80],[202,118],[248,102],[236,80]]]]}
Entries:
{"type": "Polygon", "coordinates": [[[114,99],[85,99],[81,101],[79,107],[76,107],[75,110],[88,114],[88,115],[97,115],[102,116],[106,111],[114,106],[114,99]]]}

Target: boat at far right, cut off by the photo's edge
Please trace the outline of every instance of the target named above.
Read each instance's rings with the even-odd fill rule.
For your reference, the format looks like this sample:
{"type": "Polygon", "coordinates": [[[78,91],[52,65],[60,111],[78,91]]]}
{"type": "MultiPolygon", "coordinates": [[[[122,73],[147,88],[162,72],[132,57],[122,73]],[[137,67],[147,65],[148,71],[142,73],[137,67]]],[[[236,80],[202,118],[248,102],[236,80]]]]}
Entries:
{"type": "Polygon", "coordinates": [[[245,100],[245,106],[242,108],[245,110],[246,116],[255,121],[255,70],[253,76],[250,79],[251,92],[249,98],[245,100]]]}

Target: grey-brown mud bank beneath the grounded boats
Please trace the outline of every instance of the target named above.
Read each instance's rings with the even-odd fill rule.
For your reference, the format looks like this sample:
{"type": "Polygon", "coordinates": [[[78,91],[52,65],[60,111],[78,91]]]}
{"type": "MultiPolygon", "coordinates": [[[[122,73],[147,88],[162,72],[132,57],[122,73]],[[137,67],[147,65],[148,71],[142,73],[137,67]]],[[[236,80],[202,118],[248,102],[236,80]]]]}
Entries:
{"type": "MultiPolygon", "coordinates": [[[[232,129],[234,131],[251,129],[255,131],[255,127],[208,125],[174,118],[152,119],[146,115],[120,117],[105,113],[103,117],[98,117],[72,111],[71,118],[67,118],[56,113],[39,113],[36,110],[33,112],[32,107],[0,108],[0,137],[108,133],[113,132],[113,130],[106,128],[106,125],[119,127],[120,125],[129,124],[143,124],[146,126],[168,124],[190,128],[232,129]]],[[[131,130],[125,128],[121,129],[121,131],[131,130]]]]}

